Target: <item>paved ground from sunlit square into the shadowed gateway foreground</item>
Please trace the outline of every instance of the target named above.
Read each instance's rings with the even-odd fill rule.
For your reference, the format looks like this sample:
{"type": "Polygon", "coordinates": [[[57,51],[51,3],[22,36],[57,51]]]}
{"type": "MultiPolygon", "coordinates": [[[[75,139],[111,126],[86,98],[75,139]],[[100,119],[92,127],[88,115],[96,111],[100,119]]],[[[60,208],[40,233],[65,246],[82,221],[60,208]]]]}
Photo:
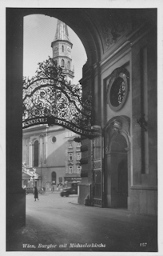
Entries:
{"type": "Polygon", "coordinates": [[[78,196],[26,195],[26,226],[8,238],[8,251],[156,252],[157,218],[82,206],[78,196]]]}

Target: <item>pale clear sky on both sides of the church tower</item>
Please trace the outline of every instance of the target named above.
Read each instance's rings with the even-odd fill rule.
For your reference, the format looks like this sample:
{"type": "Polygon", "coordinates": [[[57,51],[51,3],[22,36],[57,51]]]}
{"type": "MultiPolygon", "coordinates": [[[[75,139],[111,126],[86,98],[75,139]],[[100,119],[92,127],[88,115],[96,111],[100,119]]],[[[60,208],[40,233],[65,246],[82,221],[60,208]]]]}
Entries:
{"type": "MultiPolygon", "coordinates": [[[[51,42],[57,27],[57,19],[42,14],[33,14],[24,18],[23,38],[23,76],[31,78],[38,68],[38,62],[52,57],[51,42]]],[[[85,48],[74,30],[68,26],[72,48],[72,65],[74,66],[74,84],[82,78],[82,66],[87,61],[85,48]]]]}

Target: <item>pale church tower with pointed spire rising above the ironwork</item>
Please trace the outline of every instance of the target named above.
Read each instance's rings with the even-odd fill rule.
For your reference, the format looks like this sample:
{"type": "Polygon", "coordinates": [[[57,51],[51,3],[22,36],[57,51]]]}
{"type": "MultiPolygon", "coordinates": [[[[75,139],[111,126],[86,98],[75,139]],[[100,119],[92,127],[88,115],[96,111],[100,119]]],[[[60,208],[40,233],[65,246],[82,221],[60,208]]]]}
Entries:
{"type": "Polygon", "coordinates": [[[54,60],[58,62],[58,66],[62,67],[67,81],[73,83],[74,67],[72,66],[71,58],[73,44],[70,42],[67,25],[60,20],[58,20],[54,42],[51,43],[51,47],[54,60]]]}

